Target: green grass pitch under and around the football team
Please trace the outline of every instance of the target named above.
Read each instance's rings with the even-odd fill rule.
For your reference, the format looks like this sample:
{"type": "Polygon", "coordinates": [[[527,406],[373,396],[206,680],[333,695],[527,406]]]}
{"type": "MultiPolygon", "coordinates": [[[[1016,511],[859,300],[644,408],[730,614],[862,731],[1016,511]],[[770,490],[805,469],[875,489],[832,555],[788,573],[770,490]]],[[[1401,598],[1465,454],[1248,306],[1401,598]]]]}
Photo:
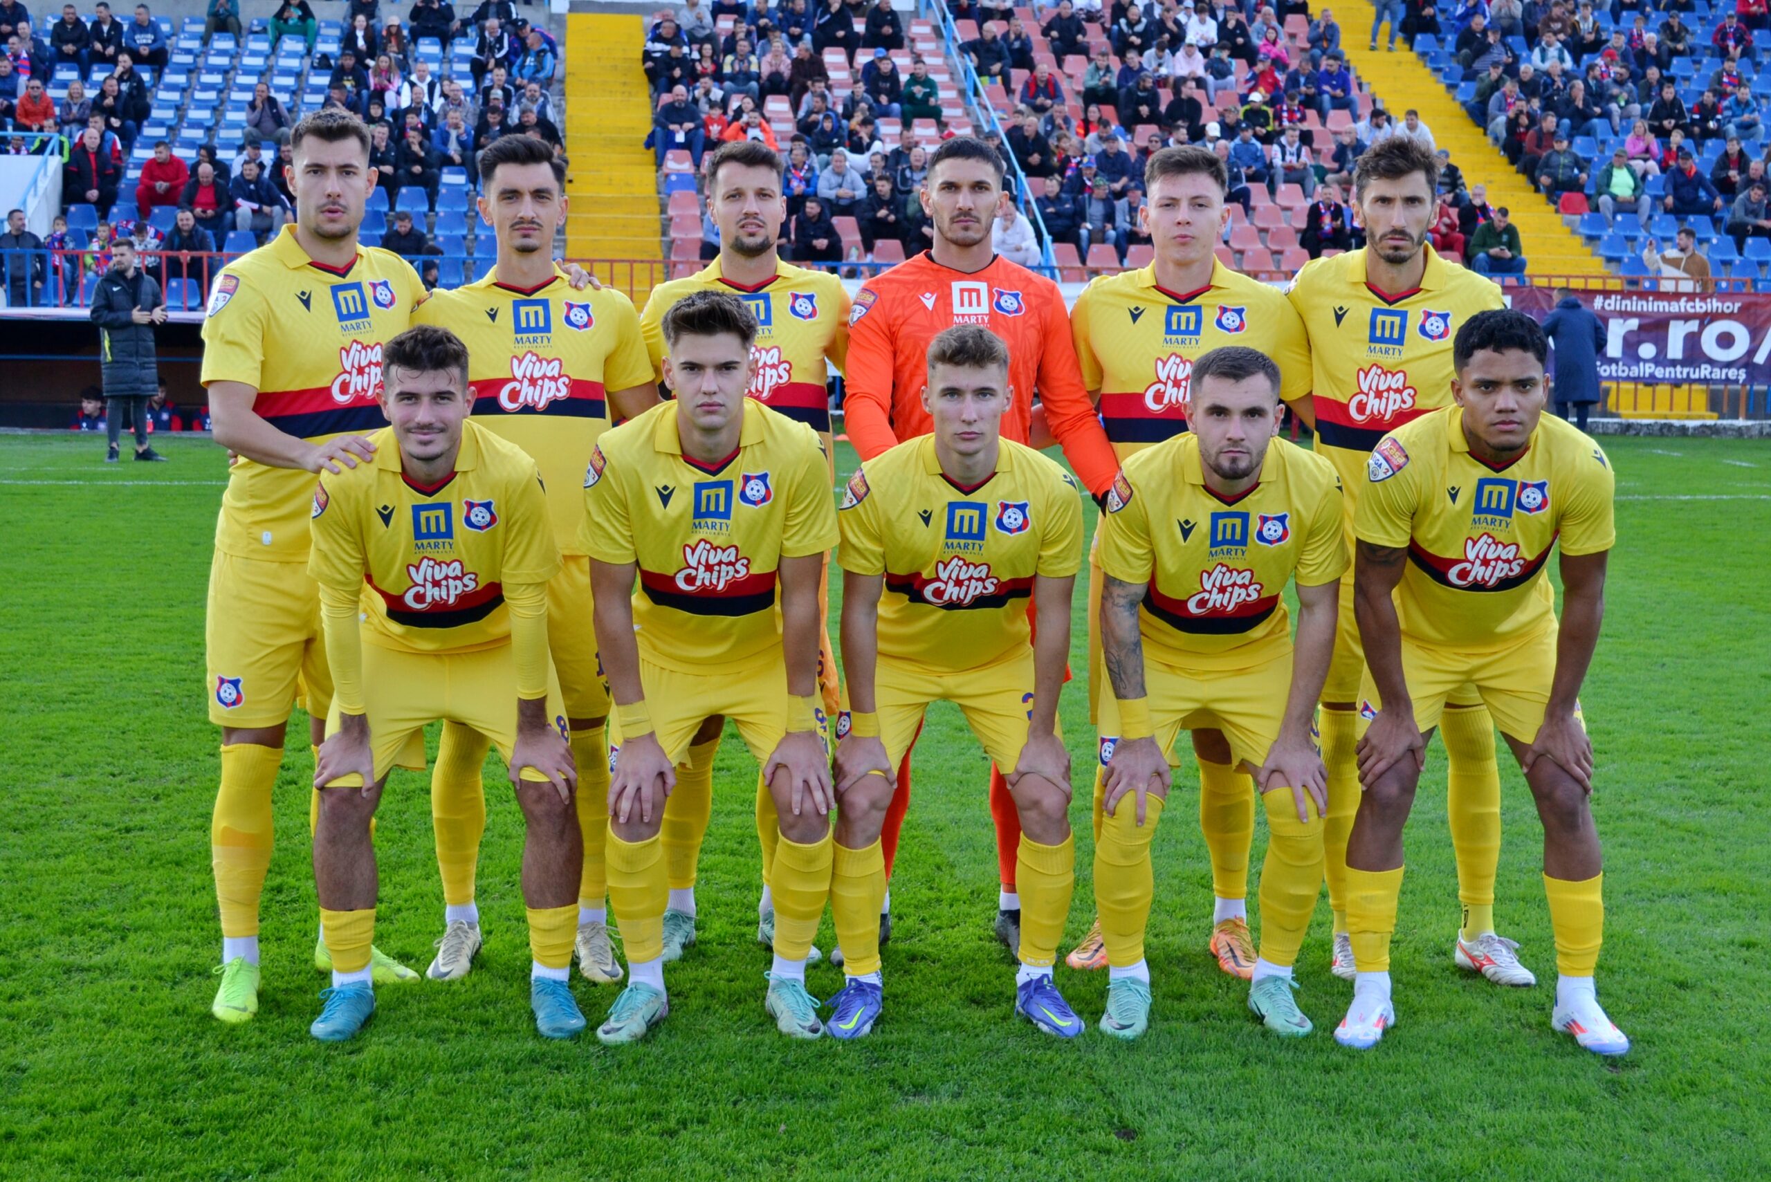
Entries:
{"type": "MultiPolygon", "coordinates": [[[[1452,966],[1436,743],[1408,839],[1399,1025],[1381,1048],[1360,1055],[1332,1039],[1348,986],[1326,968],[1326,899],[1298,968],[1312,1037],[1266,1035],[1241,982],[1210,961],[1190,757],[1156,839],[1149,1035],[1126,1046],[1091,1028],[1059,1044],[1017,1025],[1013,968],[988,934],[986,764],[946,706],[916,752],[887,1010],[861,1044],[790,1044],[763,1014],[754,764],[731,736],[700,945],[671,968],[675,1010],[645,1046],[535,1035],[521,817],[492,764],[476,971],[381,989],[381,1012],[349,1046],[308,1039],[324,982],[310,963],[305,740],[276,791],[262,1009],[221,1026],[207,1012],[218,736],[202,642],[223,457],[207,441],[159,446],[170,464],[104,467],[96,437],[0,439],[0,1177],[1764,1177],[1771,826],[1753,771],[1771,750],[1764,446],[1608,442],[1620,541],[1583,702],[1608,869],[1601,996],[1635,1039],[1619,1062],[1550,1030],[1539,832],[1511,766],[1498,920],[1544,984],[1502,991],[1452,966]]],[[[847,448],[843,464],[854,465],[847,448]]],[[[1077,667],[1080,612],[1079,591],[1077,667]]],[[[1079,683],[1063,722],[1082,798],[1073,941],[1093,913],[1094,740],[1079,683]]],[[[1264,826],[1256,878],[1263,849],[1264,826]]],[[[377,941],[423,968],[443,899],[421,777],[395,773],[379,851],[377,941]]],[[[820,945],[831,947],[829,922],[820,945]]],[[[839,977],[824,964],[808,984],[829,996],[839,977]]],[[[1093,1025],[1105,975],[1059,968],[1059,986],[1093,1025]]],[[[600,1019],[613,991],[572,987],[600,1019]]]]}

